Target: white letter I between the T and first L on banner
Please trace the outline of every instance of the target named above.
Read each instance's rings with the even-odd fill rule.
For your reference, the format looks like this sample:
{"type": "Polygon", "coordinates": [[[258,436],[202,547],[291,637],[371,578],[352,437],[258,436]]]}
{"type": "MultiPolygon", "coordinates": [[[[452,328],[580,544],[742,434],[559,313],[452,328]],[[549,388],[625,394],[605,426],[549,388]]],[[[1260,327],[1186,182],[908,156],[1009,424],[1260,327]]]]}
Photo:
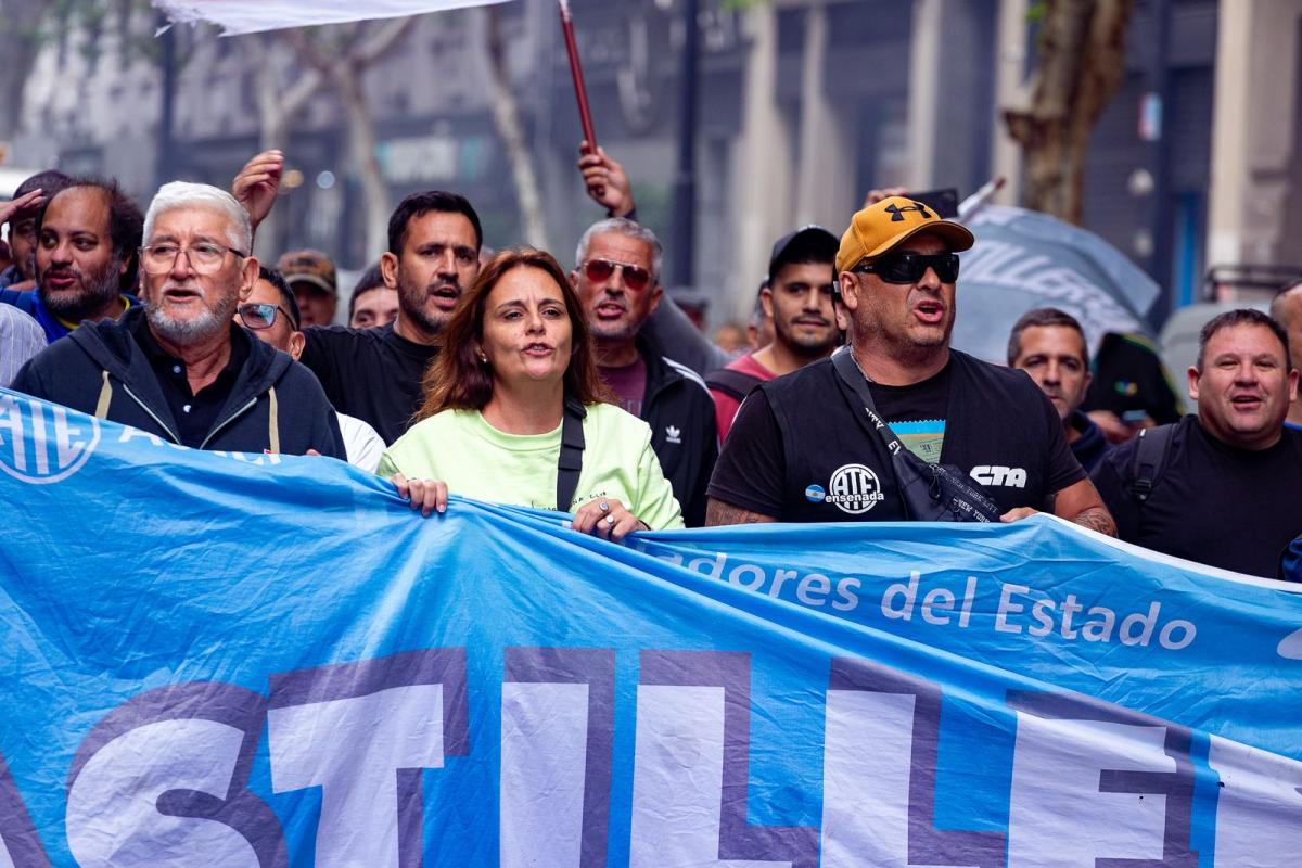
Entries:
{"type": "Polygon", "coordinates": [[[501,686],[501,868],[579,868],[589,687],[501,686]]]}

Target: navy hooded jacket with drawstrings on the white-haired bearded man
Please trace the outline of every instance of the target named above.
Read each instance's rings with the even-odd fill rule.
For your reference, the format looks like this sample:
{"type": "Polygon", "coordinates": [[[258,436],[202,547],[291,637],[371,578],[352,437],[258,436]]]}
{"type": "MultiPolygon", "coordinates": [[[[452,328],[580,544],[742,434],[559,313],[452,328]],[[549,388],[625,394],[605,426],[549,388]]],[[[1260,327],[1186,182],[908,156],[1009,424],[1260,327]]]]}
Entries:
{"type": "MultiPolygon", "coordinates": [[[[118,321],[85,323],[25,364],[10,388],[180,442],[154,368],[133,336],[146,328],[143,318],[145,310],[135,307],[118,321]]],[[[233,328],[232,340],[247,341],[247,360],[201,448],[290,455],[315,449],[344,458],[335,410],[311,371],[243,329],[233,328]]]]}

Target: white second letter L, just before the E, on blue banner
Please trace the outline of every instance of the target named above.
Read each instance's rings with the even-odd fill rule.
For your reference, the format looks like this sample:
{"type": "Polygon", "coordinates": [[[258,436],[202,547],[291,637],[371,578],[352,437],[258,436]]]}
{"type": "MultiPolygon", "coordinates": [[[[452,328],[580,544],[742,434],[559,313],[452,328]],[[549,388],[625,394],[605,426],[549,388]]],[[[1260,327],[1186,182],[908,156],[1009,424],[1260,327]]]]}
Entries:
{"type": "Polygon", "coordinates": [[[907,694],[827,692],[823,868],[909,864],[913,705],[907,694]]]}

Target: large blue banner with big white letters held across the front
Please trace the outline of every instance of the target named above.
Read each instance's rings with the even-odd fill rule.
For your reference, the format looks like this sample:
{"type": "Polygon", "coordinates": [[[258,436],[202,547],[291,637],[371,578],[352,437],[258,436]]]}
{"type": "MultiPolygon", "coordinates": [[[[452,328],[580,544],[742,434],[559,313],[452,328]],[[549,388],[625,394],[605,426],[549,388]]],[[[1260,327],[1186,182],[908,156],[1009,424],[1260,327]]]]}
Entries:
{"type": "Polygon", "coordinates": [[[1038,517],[612,545],[0,392],[0,865],[1292,865],[1302,597],[1038,517]]]}

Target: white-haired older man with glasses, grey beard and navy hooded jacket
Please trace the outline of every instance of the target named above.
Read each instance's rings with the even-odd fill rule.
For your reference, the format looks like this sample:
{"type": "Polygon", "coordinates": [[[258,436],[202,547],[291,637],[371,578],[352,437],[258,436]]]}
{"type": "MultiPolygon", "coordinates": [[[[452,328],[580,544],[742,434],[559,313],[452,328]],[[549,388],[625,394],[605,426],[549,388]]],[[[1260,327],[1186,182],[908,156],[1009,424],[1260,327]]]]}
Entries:
{"type": "Polygon", "coordinates": [[[143,308],[51,345],[12,388],[195,449],[342,458],[311,372],[232,323],[258,280],[250,245],[230,194],[164,185],[145,216],[143,308]]]}

